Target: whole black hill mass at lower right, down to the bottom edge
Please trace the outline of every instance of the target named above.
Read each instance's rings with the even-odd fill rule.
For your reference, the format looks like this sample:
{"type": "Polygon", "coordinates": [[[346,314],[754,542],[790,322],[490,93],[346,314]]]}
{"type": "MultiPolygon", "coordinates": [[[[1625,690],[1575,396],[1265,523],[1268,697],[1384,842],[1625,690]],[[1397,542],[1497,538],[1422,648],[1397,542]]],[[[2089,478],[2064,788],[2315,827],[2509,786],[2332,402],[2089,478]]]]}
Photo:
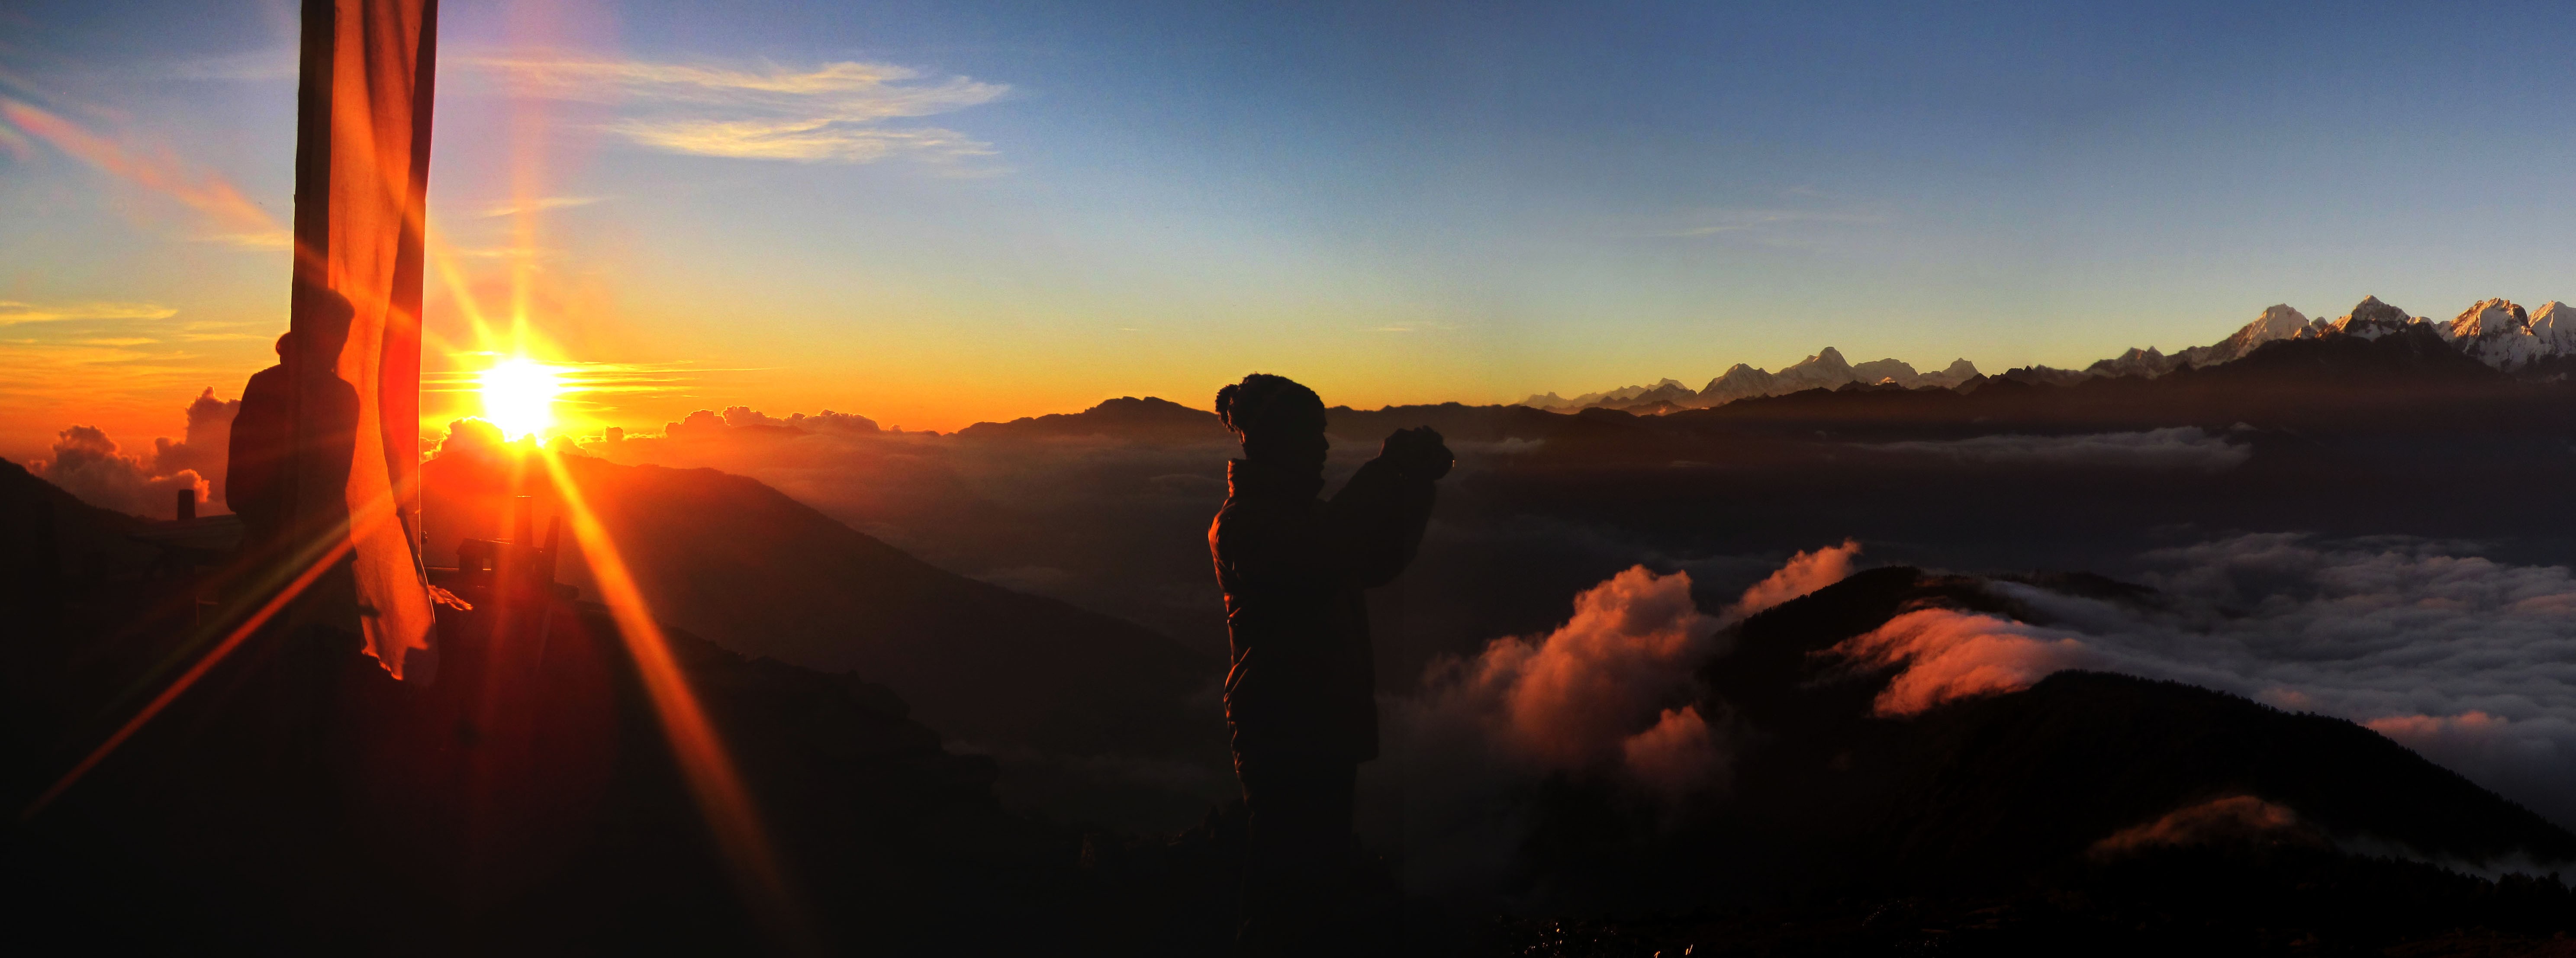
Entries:
{"type": "Polygon", "coordinates": [[[1821,652],[1919,608],[2040,618],[1976,577],[1880,567],[1744,621],[1700,672],[1731,788],[1677,814],[1551,778],[1515,894],[1553,919],[1515,948],[2478,953],[2576,932],[2558,878],[2432,865],[2566,868],[2576,834],[2352,721],[2102,672],[1875,716],[1893,672],[1821,652]]]}

